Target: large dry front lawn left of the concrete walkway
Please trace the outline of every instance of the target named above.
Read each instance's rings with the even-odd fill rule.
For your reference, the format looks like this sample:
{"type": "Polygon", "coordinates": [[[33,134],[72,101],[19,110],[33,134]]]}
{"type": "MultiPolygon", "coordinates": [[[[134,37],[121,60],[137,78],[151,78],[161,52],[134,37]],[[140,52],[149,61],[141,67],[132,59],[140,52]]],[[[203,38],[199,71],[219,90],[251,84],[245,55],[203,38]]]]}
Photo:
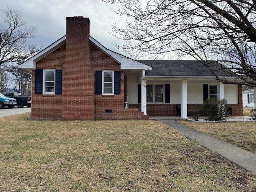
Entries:
{"type": "Polygon", "coordinates": [[[161,122],[0,118],[0,191],[254,190],[253,174],[161,122]]]}

